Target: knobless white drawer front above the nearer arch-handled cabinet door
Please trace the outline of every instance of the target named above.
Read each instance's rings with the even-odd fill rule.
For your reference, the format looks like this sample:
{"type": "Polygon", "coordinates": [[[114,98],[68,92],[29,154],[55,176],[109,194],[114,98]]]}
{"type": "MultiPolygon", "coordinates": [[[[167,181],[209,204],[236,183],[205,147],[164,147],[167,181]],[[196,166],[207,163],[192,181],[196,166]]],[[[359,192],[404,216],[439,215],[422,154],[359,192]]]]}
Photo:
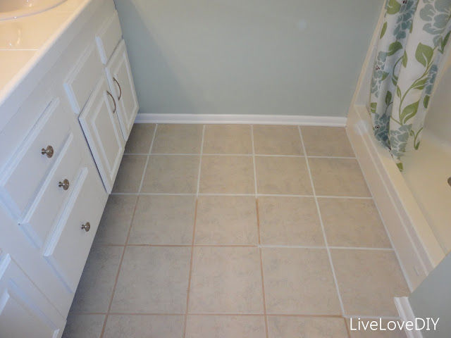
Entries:
{"type": "Polygon", "coordinates": [[[82,111],[102,69],[94,44],[89,44],[64,82],[64,89],[75,114],[82,111]]]}

